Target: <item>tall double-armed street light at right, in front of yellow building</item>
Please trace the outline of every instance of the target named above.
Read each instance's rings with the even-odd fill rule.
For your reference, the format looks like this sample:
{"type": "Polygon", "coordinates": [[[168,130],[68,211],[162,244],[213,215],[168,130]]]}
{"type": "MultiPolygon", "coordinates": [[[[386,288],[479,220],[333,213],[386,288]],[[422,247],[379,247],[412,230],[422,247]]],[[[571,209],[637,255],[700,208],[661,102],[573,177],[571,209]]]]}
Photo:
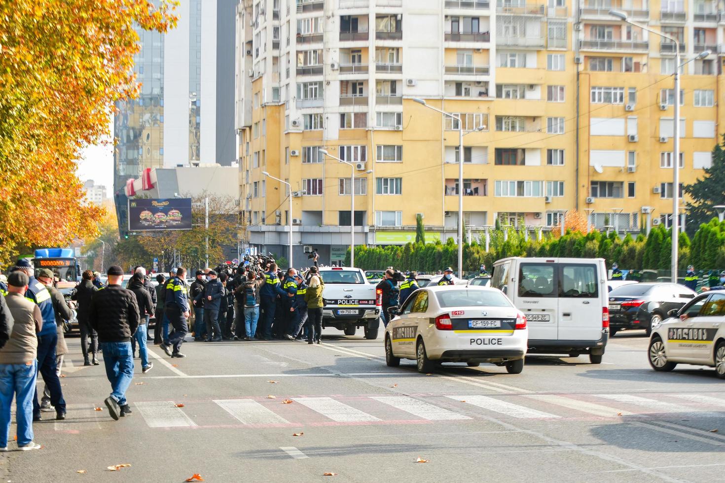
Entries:
{"type": "Polygon", "coordinates": [[[700,54],[697,54],[693,59],[688,60],[687,62],[684,62],[684,64],[680,64],[680,54],[679,54],[679,41],[671,37],[670,35],[667,35],[666,33],[662,33],[659,30],[653,30],[652,28],[647,27],[647,25],[642,25],[637,22],[632,22],[627,17],[627,14],[624,12],[620,12],[618,10],[610,10],[609,14],[612,17],[618,18],[619,20],[622,20],[623,22],[629,23],[630,25],[634,25],[635,27],[639,27],[642,30],[647,30],[647,32],[653,33],[655,35],[659,35],[662,38],[668,39],[668,41],[671,41],[675,44],[675,92],[674,92],[674,126],[673,126],[673,135],[674,135],[674,153],[673,153],[673,161],[672,161],[672,263],[671,263],[671,270],[672,270],[672,283],[677,283],[677,257],[679,252],[679,101],[680,101],[680,78],[679,78],[679,70],[680,67],[682,67],[684,64],[687,64],[688,62],[692,62],[696,59],[703,59],[704,57],[711,54],[710,51],[706,50],[704,52],[700,52],[700,54]]]}

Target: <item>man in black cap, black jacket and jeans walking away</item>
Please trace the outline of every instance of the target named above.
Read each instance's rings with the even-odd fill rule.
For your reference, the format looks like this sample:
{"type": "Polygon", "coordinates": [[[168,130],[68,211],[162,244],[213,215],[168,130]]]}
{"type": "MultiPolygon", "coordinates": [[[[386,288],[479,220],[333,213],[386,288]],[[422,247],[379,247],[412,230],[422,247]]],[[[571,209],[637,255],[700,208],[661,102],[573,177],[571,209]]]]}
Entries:
{"type": "Polygon", "coordinates": [[[106,377],[111,383],[111,394],[104,401],[108,413],[118,421],[131,413],[126,401],[126,390],[133,380],[133,351],[131,337],[141,322],[136,295],[121,287],[123,269],[112,265],[108,269],[108,285],[94,293],[88,321],[98,332],[103,350],[106,377]]]}

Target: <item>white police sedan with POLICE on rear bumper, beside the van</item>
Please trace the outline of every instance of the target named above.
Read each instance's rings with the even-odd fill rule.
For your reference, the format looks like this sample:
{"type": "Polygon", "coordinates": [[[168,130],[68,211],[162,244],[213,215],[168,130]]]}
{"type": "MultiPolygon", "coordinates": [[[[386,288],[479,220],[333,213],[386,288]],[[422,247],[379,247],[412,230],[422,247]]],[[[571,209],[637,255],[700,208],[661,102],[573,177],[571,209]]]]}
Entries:
{"type": "Polygon", "coordinates": [[[523,370],[529,340],[526,317],[500,290],[428,286],[415,290],[385,329],[385,358],[413,359],[418,372],[442,362],[490,362],[510,374],[523,370]]]}

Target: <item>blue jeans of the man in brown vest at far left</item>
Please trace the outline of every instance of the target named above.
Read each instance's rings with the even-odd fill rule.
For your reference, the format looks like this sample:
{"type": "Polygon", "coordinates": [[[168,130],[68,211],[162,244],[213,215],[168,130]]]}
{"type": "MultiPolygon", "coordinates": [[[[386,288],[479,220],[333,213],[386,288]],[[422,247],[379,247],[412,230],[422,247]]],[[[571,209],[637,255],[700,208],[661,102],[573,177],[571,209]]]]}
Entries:
{"type": "Polygon", "coordinates": [[[0,448],[10,437],[10,407],[16,396],[17,444],[33,441],[33,391],[36,389],[38,361],[30,364],[0,364],[0,448]]]}

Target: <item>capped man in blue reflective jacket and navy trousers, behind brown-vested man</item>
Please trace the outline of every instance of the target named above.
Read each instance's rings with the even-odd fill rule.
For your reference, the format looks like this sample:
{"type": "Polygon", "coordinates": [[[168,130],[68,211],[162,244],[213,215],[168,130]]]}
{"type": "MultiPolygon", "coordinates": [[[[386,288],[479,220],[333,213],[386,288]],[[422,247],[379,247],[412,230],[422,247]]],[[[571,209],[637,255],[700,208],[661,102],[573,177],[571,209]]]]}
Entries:
{"type": "MultiPolygon", "coordinates": [[[[25,291],[25,298],[35,302],[41,309],[43,315],[43,328],[38,333],[38,372],[41,373],[43,381],[50,390],[50,402],[54,406],[57,415],[63,414],[65,419],[65,400],[60,387],[60,379],[57,374],[56,345],[58,343],[58,332],[55,324],[55,310],[51,301],[50,292],[46,286],[33,277],[35,270],[28,260],[18,260],[13,271],[20,270],[28,275],[28,290],[25,291]]],[[[33,404],[33,421],[41,420],[41,408],[33,404]]]]}

